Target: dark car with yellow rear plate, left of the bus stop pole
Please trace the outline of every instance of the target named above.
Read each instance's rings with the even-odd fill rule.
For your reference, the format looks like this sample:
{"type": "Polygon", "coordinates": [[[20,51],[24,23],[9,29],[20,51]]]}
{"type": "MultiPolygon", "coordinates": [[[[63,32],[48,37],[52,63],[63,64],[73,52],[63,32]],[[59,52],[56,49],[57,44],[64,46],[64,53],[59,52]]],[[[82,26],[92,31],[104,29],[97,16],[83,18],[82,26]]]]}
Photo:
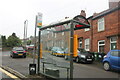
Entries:
{"type": "Polygon", "coordinates": [[[14,47],[12,51],[10,52],[10,57],[24,57],[26,58],[26,51],[23,49],[23,47],[14,47]]]}

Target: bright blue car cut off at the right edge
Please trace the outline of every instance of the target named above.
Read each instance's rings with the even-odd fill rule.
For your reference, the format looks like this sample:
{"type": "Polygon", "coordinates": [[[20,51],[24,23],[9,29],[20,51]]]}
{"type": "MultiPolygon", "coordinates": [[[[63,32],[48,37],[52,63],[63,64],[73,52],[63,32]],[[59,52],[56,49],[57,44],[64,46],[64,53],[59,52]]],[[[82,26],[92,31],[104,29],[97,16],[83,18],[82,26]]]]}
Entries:
{"type": "Polygon", "coordinates": [[[103,68],[106,71],[111,69],[120,70],[120,50],[110,50],[103,59],[103,68]]]}

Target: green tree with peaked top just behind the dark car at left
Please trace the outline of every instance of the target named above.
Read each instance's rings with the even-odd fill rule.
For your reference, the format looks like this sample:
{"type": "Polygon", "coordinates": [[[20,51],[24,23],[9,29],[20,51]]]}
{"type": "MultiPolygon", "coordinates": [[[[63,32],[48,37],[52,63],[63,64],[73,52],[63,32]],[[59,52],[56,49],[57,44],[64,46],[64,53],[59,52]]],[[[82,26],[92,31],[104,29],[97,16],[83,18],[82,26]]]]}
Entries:
{"type": "Polygon", "coordinates": [[[7,39],[7,47],[21,46],[21,40],[13,33],[7,39]]]}

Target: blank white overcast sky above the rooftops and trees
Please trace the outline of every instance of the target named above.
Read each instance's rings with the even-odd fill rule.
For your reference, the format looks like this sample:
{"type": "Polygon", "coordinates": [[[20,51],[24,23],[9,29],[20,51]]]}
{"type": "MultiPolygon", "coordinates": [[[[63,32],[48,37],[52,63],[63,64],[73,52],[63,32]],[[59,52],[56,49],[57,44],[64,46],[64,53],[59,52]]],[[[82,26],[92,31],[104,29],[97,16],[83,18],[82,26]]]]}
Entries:
{"type": "Polygon", "coordinates": [[[81,10],[89,17],[108,8],[108,0],[0,0],[0,34],[8,37],[14,32],[22,39],[24,21],[28,20],[27,37],[34,36],[38,12],[46,25],[79,15],[81,10]]]}

